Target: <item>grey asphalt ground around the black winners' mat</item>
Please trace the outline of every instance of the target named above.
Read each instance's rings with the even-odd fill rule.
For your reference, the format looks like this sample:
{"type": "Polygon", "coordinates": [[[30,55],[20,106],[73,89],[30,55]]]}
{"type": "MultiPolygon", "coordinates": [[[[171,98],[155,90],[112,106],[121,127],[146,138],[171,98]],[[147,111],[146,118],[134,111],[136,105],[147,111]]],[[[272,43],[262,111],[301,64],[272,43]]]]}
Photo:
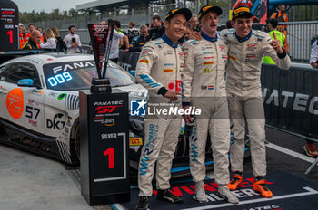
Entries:
{"type": "MultiPolygon", "coordinates": [[[[308,175],[304,174],[314,158],[304,155],[303,138],[267,128],[266,139],[268,174],[286,171],[318,184],[318,166],[313,167],[308,175]]],[[[52,159],[0,144],[0,168],[1,209],[104,210],[121,206],[87,205],[80,193],[79,171],[66,170],[62,163],[52,159]]],[[[244,174],[253,174],[249,158],[245,159],[244,174]]],[[[208,175],[212,177],[212,173],[208,175]]],[[[190,180],[191,177],[184,179],[190,180]]],[[[318,196],[315,199],[318,200],[318,196]]],[[[228,206],[226,209],[233,208],[228,206]]]]}

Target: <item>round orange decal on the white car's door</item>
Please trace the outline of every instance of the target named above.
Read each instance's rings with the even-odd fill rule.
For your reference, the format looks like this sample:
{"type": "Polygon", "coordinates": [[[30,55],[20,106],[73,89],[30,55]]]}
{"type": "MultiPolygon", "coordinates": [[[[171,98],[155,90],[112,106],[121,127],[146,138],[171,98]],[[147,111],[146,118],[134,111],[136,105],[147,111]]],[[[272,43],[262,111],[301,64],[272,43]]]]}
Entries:
{"type": "Polygon", "coordinates": [[[24,92],[20,88],[9,91],[6,96],[6,110],[11,117],[20,119],[24,112],[24,92]]]}

